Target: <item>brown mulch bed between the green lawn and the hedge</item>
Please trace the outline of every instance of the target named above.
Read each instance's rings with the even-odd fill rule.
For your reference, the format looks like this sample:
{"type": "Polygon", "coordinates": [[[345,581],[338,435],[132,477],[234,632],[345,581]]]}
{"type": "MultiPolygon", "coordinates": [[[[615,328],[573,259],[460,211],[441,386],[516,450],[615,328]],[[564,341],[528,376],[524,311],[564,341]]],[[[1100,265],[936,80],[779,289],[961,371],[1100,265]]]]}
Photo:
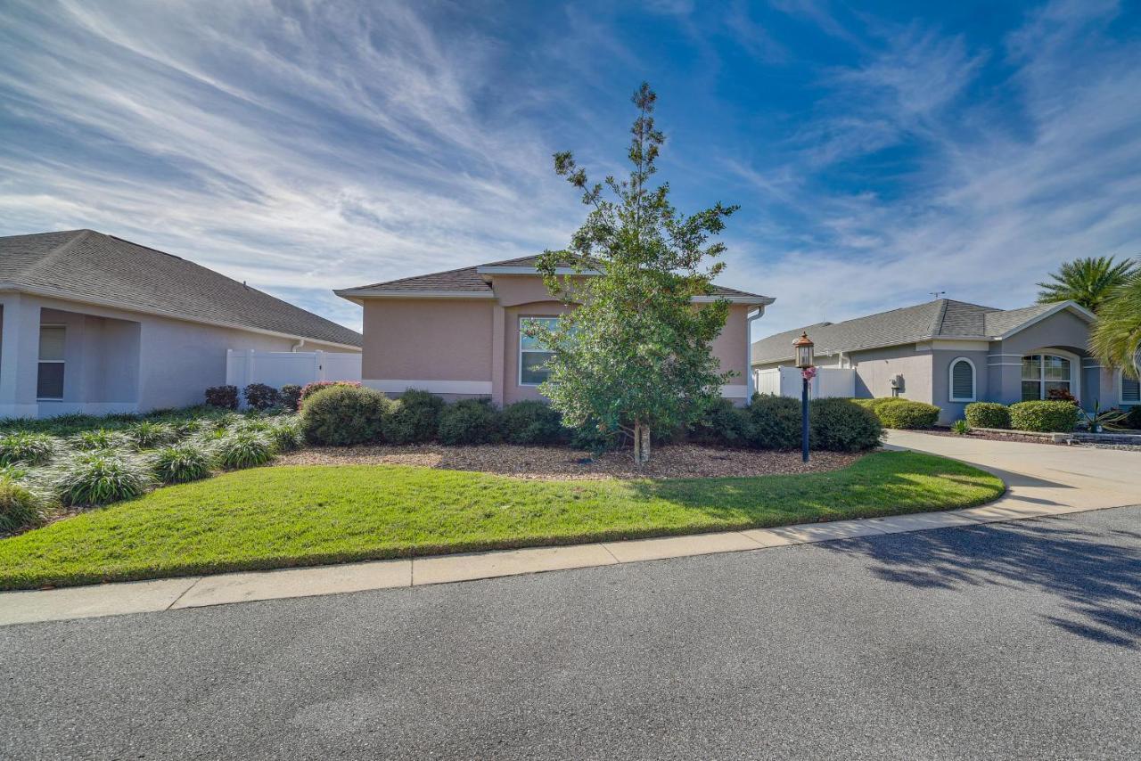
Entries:
{"type": "Polygon", "coordinates": [[[596,480],[605,478],[714,478],[769,476],[839,470],[861,455],[814,452],[800,461],[800,452],[719,450],[694,444],[655,447],[650,461],[634,468],[630,452],[608,452],[599,458],[567,447],[511,446],[349,446],[310,447],[277,458],[283,465],[421,465],[540,480],[596,480]]]}

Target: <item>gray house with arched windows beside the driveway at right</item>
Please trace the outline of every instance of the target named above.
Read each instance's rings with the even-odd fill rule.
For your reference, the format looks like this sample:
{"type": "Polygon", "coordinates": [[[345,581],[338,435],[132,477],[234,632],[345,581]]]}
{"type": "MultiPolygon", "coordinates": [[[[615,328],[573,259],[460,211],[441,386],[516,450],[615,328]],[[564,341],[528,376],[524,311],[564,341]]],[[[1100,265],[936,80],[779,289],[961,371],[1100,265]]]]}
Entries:
{"type": "Polygon", "coordinates": [[[938,299],[770,335],[753,343],[752,365],[793,364],[792,342],[807,332],[817,365],[853,370],[857,397],[928,402],[942,408],[942,422],[971,402],[1044,399],[1052,389],[1087,410],[1139,404],[1138,381],[1090,356],[1093,318],[1073,301],[994,309],[938,299]]]}

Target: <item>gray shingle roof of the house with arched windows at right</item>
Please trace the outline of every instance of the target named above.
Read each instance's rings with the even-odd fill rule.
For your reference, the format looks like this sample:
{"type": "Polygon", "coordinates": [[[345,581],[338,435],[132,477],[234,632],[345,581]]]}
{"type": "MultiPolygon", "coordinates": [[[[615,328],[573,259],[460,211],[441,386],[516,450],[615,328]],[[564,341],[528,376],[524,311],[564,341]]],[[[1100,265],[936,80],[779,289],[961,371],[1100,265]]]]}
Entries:
{"type": "Polygon", "coordinates": [[[816,343],[816,354],[822,356],[933,338],[990,339],[1009,333],[1057,307],[1057,303],[1043,303],[1004,310],[965,301],[937,299],[867,317],[840,323],[817,323],[769,335],[753,342],[752,357],[754,364],[791,359],[792,342],[802,332],[808,333],[816,343]]]}

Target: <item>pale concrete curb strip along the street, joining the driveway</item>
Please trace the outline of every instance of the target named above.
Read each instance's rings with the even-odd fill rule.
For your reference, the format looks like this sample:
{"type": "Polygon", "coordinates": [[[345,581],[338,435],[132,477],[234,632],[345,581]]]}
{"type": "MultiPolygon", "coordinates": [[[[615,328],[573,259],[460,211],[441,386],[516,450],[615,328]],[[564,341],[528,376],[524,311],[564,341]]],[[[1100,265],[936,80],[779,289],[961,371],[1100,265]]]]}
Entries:
{"type": "Polygon", "coordinates": [[[889,445],[989,470],[1008,493],[980,508],[573,547],[534,548],[0,593],[0,625],[443,584],[494,576],[1041,518],[1141,503],[1141,456],[892,431],[889,445]]]}

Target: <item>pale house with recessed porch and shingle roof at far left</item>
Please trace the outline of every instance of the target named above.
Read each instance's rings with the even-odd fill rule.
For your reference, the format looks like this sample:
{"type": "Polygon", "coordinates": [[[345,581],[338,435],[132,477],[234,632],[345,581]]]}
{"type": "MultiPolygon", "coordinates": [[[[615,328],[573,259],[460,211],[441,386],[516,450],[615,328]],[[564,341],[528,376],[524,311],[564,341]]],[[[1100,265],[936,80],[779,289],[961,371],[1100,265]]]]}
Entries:
{"type": "Polygon", "coordinates": [[[89,229],[0,237],[0,416],[199,404],[227,349],[359,351],[361,335],[89,229]]]}

